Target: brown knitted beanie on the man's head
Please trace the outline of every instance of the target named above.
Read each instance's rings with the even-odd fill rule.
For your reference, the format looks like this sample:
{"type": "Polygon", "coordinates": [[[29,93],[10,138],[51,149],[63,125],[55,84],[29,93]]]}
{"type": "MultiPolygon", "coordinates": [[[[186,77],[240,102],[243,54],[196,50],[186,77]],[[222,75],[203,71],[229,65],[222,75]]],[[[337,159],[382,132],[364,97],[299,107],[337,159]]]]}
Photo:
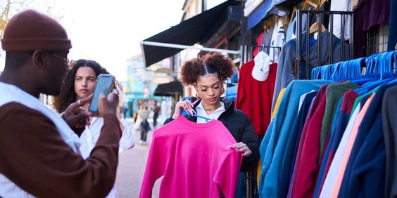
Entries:
{"type": "Polygon", "coordinates": [[[1,46],[4,51],[68,51],[72,48],[68,34],[56,20],[32,10],[10,19],[1,46]]]}

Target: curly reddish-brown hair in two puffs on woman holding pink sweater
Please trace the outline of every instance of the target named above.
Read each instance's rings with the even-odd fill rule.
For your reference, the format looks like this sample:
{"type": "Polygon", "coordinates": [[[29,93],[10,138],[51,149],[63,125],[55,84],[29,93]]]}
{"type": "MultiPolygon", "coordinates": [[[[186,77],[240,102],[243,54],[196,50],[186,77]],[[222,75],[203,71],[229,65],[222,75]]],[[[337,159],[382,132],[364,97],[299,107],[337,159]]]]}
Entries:
{"type": "Polygon", "coordinates": [[[194,58],[182,65],[182,83],[185,85],[196,84],[198,77],[207,74],[218,74],[220,80],[225,80],[232,76],[233,67],[232,59],[222,53],[212,53],[203,58],[194,58]]]}

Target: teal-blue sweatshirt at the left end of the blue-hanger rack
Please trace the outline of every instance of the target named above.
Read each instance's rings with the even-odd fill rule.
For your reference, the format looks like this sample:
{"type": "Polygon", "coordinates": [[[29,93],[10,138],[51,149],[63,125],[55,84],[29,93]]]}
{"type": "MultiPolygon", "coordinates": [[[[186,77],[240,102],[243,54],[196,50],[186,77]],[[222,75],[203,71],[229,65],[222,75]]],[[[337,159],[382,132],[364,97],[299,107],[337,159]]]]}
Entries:
{"type": "Polygon", "coordinates": [[[285,142],[290,138],[293,121],[296,119],[299,99],[304,93],[317,90],[329,81],[292,81],[286,88],[279,110],[267,128],[260,145],[262,172],[259,192],[262,197],[277,197],[279,168],[285,142]]]}

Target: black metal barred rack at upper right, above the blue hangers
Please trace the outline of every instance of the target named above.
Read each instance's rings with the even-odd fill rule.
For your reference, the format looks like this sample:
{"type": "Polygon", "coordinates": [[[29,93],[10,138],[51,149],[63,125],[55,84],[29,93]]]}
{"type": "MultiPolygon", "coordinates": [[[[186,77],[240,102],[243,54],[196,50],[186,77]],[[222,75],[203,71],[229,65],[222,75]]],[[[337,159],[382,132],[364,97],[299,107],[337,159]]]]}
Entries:
{"type": "MultiPolygon", "coordinates": [[[[344,60],[350,60],[353,58],[353,44],[354,44],[354,29],[353,29],[353,24],[354,24],[354,15],[353,12],[349,11],[305,11],[305,10],[299,10],[296,11],[296,15],[298,16],[297,18],[297,27],[296,27],[296,39],[297,39],[297,45],[296,45],[296,67],[293,68],[291,71],[296,74],[298,79],[310,79],[310,61],[305,61],[305,65],[302,65],[302,48],[299,46],[302,46],[302,41],[305,39],[305,52],[308,52],[310,50],[310,15],[315,15],[316,16],[316,22],[318,22],[319,25],[317,25],[317,38],[322,38],[322,18],[323,16],[329,15],[329,32],[330,32],[330,37],[329,37],[329,61],[326,64],[332,64],[334,63],[332,61],[332,58],[334,58],[333,54],[333,37],[332,35],[334,34],[334,15],[341,15],[341,37],[339,38],[341,40],[341,53],[339,54],[339,60],[344,61],[344,60]],[[304,32],[299,32],[302,29],[302,18],[303,15],[307,15],[307,22],[305,23],[305,31],[304,32]],[[350,37],[348,39],[348,44],[350,44],[349,49],[344,48],[344,42],[345,42],[345,25],[346,25],[346,16],[351,18],[351,23],[350,23],[350,37]],[[348,58],[346,59],[345,57],[345,51],[349,51],[348,58]],[[304,72],[304,73],[303,73],[304,72]]],[[[327,27],[326,27],[327,28],[327,27]]],[[[317,39],[317,64],[315,67],[321,66],[321,39],[317,39]]],[[[309,60],[309,53],[305,53],[305,60],[309,60]]]]}

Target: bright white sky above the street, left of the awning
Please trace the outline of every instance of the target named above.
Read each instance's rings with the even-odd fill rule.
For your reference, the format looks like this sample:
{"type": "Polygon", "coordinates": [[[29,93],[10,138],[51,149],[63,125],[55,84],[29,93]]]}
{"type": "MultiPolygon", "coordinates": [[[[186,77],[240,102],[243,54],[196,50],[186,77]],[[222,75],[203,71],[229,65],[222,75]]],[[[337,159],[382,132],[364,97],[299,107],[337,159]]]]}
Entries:
{"type": "MultiPolygon", "coordinates": [[[[207,8],[223,1],[208,0],[207,8]]],[[[69,59],[96,60],[118,81],[127,80],[127,59],[141,53],[139,42],[177,25],[182,19],[184,4],[184,0],[30,2],[29,7],[38,10],[52,6],[52,15],[65,27],[72,41],[69,59]]],[[[3,69],[4,55],[1,55],[0,71],[3,69]]]]}

